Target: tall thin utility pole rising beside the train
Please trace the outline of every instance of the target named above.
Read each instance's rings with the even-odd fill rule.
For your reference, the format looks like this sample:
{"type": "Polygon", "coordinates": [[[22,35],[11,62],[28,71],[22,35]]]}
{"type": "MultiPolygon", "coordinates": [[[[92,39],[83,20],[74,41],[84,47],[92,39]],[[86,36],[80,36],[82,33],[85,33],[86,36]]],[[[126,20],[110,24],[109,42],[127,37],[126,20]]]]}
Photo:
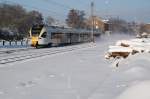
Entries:
{"type": "Polygon", "coordinates": [[[94,42],[94,2],[91,2],[91,18],[92,18],[92,31],[91,31],[91,39],[94,42]]]}

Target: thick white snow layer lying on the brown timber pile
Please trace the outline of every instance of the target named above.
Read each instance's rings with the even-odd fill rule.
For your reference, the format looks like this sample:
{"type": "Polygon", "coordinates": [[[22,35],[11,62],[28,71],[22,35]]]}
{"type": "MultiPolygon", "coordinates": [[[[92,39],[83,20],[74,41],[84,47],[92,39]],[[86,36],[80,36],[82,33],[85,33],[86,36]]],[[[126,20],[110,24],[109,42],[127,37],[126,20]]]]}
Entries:
{"type": "MultiPolygon", "coordinates": [[[[113,52],[130,52],[137,51],[139,53],[150,52],[150,38],[137,38],[118,40],[115,46],[109,46],[108,54],[113,52]]],[[[106,55],[107,56],[107,55],[106,55]]]]}

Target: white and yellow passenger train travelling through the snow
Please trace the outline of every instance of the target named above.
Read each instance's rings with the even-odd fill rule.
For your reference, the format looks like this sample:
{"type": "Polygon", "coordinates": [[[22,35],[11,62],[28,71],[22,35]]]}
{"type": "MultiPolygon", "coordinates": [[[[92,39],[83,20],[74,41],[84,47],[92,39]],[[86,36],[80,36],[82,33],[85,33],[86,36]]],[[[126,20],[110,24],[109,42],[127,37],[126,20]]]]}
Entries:
{"type": "MultiPolygon", "coordinates": [[[[94,35],[100,35],[100,31],[94,31],[94,35]]],[[[33,47],[60,46],[90,42],[91,30],[74,29],[70,27],[33,25],[29,30],[29,42],[33,47]]]]}

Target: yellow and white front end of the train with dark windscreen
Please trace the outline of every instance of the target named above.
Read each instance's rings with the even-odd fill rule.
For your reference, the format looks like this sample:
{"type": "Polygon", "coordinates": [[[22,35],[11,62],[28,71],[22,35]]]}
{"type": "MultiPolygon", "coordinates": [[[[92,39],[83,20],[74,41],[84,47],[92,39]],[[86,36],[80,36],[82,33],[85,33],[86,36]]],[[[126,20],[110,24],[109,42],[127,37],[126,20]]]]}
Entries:
{"type": "Polygon", "coordinates": [[[44,45],[45,33],[44,25],[34,25],[29,31],[31,46],[37,47],[44,45]]]}

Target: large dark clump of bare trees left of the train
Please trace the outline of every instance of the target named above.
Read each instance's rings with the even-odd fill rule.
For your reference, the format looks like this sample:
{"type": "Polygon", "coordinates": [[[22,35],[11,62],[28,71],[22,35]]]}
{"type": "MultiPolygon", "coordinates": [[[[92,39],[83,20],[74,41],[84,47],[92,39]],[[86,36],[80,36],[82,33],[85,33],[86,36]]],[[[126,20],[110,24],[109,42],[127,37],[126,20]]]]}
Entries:
{"type": "Polygon", "coordinates": [[[43,16],[38,11],[28,12],[20,5],[0,4],[0,39],[23,39],[33,24],[41,23],[43,16]]]}

